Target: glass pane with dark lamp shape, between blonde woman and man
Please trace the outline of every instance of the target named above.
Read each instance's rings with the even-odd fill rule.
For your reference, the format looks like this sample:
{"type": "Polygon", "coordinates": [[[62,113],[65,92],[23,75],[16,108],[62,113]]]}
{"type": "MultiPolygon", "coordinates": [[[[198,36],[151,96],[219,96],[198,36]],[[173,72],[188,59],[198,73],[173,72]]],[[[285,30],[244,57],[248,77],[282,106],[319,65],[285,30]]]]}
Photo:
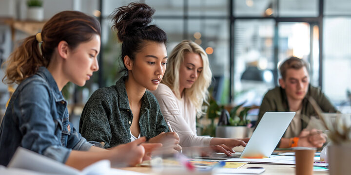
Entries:
{"type": "Polygon", "coordinates": [[[274,20],[235,21],[234,101],[261,105],[267,89],[274,87],[274,20]]]}

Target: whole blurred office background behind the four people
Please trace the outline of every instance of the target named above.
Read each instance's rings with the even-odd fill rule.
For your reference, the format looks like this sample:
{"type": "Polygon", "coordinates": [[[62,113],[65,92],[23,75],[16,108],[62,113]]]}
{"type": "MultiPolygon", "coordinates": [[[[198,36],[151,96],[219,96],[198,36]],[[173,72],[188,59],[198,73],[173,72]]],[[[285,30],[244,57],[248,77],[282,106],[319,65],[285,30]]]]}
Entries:
{"type": "MultiPolygon", "coordinates": [[[[31,7],[27,0],[0,0],[0,61],[7,59],[21,39],[40,32],[45,20],[60,11],[78,10],[98,18],[102,27],[100,70],[84,87],[68,84],[63,90],[71,115],[79,118],[92,92],[114,85],[121,77],[120,43],[111,31],[109,16],[131,1],[41,2],[38,6],[43,17],[35,19],[28,17],[31,7]]],[[[213,71],[210,91],[218,104],[260,105],[265,92],[278,85],[279,63],[298,56],[310,63],[311,84],[322,88],[339,110],[351,112],[351,0],[139,2],[156,9],[153,23],[167,33],[168,53],[183,39],[205,49],[213,71]]],[[[9,91],[1,82],[0,116],[9,91]]]]}

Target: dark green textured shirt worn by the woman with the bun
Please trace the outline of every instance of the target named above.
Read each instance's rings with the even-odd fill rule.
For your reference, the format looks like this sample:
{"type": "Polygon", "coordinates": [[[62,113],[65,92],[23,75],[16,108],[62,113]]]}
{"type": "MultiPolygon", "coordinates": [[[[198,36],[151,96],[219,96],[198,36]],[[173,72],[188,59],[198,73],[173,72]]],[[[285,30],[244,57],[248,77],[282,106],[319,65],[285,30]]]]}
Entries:
{"type": "MultiPolygon", "coordinates": [[[[169,132],[155,96],[146,91],[140,108],[140,136],[153,138],[169,132]]],[[[104,148],[131,141],[133,122],[124,77],[115,86],[99,88],[89,98],[79,121],[79,133],[88,141],[104,142],[104,148]]]]}

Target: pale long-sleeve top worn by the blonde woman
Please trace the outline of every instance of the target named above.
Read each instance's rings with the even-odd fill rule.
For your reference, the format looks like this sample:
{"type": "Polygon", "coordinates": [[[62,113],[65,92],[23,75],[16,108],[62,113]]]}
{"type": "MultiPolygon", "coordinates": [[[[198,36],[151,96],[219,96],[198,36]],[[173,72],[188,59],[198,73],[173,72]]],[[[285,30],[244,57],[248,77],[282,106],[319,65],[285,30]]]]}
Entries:
{"type": "Polygon", "coordinates": [[[179,135],[180,146],[209,146],[212,138],[196,135],[196,109],[183,95],[181,99],[165,84],[151,91],[160,107],[166,122],[169,122],[174,132],[179,135]]]}

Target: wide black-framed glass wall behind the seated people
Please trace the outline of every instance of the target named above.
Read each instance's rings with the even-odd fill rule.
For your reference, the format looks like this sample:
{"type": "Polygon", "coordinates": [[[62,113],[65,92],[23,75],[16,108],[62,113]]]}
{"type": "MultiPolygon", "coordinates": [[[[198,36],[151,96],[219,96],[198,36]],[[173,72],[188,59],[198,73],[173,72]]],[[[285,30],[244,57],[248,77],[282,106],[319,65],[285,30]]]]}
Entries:
{"type": "MultiPolygon", "coordinates": [[[[113,85],[121,76],[117,72],[120,44],[110,29],[108,16],[129,2],[102,0],[103,84],[100,86],[113,85]]],[[[347,49],[351,43],[348,32],[351,19],[345,17],[351,16],[348,0],[143,2],[156,9],[153,23],[167,33],[168,53],[183,39],[213,51],[208,54],[214,75],[210,90],[221,104],[246,101],[247,105],[260,105],[265,92],[278,85],[278,65],[290,56],[310,63],[311,84],[321,87],[335,105],[348,100],[346,94],[351,86],[347,83],[350,75],[347,68],[351,64],[347,49]],[[320,14],[323,11],[326,17],[320,14]],[[338,71],[334,71],[338,65],[338,71]]]]}

